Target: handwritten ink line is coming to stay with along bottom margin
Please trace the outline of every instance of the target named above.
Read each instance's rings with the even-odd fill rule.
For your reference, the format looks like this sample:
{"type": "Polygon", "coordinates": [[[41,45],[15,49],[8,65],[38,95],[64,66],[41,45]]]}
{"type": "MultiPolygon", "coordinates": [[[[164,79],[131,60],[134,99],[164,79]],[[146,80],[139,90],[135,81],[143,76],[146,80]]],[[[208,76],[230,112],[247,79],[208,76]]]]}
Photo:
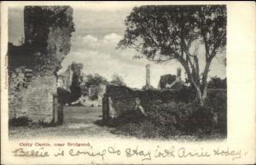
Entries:
{"type": "MultiPolygon", "coordinates": [[[[103,148],[102,150],[95,149],[90,143],[85,145],[79,145],[79,147],[74,147],[78,145],[67,145],[62,144],[61,146],[70,146],[66,148],[59,148],[57,151],[52,151],[50,149],[50,144],[46,144],[45,146],[38,147],[31,147],[35,144],[26,144],[20,145],[19,148],[12,151],[14,156],[21,156],[21,157],[61,157],[61,156],[73,156],[73,157],[81,157],[81,156],[88,156],[88,157],[96,157],[100,158],[102,161],[106,159],[108,156],[125,156],[127,158],[136,157],[138,160],[143,162],[151,161],[153,159],[170,159],[170,158],[177,158],[177,159],[184,159],[189,157],[218,157],[224,156],[230,158],[232,161],[236,159],[241,159],[243,156],[247,156],[246,151],[241,150],[232,150],[230,147],[226,148],[215,148],[213,150],[207,150],[203,147],[199,148],[199,150],[189,150],[186,147],[176,147],[171,145],[170,147],[160,147],[159,145],[155,147],[153,150],[143,150],[142,147],[139,145],[135,147],[125,147],[119,149],[114,146],[108,146],[107,148],[103,148]]],[[[54,146],[60,146],[55,145],[54,146]]]]}

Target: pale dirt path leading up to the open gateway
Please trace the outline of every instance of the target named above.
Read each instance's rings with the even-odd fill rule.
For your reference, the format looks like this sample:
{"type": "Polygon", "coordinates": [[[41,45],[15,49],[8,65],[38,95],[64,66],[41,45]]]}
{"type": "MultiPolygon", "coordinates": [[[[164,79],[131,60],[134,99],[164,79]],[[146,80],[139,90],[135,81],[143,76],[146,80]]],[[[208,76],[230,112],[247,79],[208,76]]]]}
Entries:
{"type": "Polygon", "coordinates": [[[67,106],[64,108],[64,122],[57,127],[16,127],[9,131],[10,139],[35,137],[83,137],[83,136],[116,136],[110,133],[111,128],[100,127],[94,122],[102,119],[102,107],[67,106]]]}

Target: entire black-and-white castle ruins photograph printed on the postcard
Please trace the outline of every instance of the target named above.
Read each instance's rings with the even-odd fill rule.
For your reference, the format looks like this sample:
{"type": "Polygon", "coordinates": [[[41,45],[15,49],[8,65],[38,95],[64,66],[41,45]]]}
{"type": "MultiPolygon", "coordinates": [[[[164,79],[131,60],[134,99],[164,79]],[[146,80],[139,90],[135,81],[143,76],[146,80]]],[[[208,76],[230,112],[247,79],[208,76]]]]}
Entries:
{"type": "Polygon", "coordinates": [[[9,8],[9,137],[225,139],[225,5],[9,8]]]}

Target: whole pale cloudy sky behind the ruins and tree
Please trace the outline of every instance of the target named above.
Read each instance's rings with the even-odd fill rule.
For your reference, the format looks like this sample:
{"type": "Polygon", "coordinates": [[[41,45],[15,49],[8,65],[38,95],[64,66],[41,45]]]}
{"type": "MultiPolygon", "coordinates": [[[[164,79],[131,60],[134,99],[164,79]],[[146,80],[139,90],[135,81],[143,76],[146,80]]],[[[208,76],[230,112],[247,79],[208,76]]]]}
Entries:
{"type": "MultiPolygon", "coordinates": [[[[155,88],[161,75],[176,74],[177,67],[182,68],[184,80],[183,67],[176,60],[164,64],[155,64],[146,59],[134,60],[132,58],[136,54],[134,49],[116,48],[125,33],[125,18],[133,7],[134,5],[127,5],[110,8],[104,6],[104,3],[99,3],[96,8],[73,7],[75,31],[72,36],[71,51],[62,61],[61,71],[65,71],[67,66],[75,61],[83,63],[84,74],[97,73],[109,81],[113,74],[118,74],[123,77],[128,87],[142,88],[146,82],[145,65],[149,64],[150,82],[155,88]]],[[[23,9],[9,9],[9,42],[18,44],[22,36],[24,36],[23,9]]],[[[199,48],[198,54],[202,69],[203,47],[199,48]]],[[[222,63],[224,57],[225,52],[217,54],[217,58],[212,60],[209,77],[226,77],[226,68],[222,63]]]]}

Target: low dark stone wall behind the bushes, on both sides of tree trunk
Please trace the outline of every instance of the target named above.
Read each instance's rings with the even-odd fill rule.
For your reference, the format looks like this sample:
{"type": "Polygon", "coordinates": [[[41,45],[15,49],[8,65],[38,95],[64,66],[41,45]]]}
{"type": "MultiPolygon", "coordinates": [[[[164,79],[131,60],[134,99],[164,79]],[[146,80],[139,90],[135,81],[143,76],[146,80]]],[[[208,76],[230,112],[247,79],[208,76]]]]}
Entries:
{"type": "MultiPolygon", "coordinates": [[[[186,87],[164,90],[134,90],[125,86],[108,85],[102,98],[103,120],[106,121],[109,118],[119,117],[125,111],[134,111],[136,98],[141,100],[144,110],[148,111],[152,109],[152,105],[170,102],[189,103],[191,100],[195,100],[195,94],[186,87]]],[[[208,99],[210,102],[218,100],[219,104],[226,105],[227,91],[226,89],[208,89],[208,99]]],[[[218,105],[218,103],[215,105],[218,105]]],[[[218,107],[216,107],[215,111],[218,111],[218,107]]],[[[225,115],[222,116],[225,117],[225,115]]]]}

